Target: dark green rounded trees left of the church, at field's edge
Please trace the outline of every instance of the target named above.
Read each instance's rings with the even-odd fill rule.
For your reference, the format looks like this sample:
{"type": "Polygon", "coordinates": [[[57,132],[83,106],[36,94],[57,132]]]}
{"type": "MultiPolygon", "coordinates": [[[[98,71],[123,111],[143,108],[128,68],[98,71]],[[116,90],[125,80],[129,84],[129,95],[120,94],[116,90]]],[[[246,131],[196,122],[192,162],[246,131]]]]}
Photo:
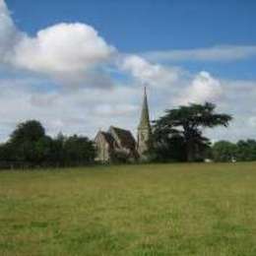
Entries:
{"type": "Polygon", "coordinates": [[[74,166],[95,160],[94,143],[83,136],[51,138],[41,123],[29,120],[17,126],[10,139],[0,145],[1,168],[74,166]]]}

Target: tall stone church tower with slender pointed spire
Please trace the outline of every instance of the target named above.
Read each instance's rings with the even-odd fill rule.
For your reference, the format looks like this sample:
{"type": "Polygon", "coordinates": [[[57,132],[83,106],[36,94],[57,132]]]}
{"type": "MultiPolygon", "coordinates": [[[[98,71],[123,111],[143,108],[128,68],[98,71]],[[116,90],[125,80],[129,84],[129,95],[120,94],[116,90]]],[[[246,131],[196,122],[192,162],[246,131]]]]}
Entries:
{"type": "Polygon", "coordinates": [[[147,160],[147,152],[152,146],[152,130],[146,87],[144,88],[144,98],[141,112],[140,124],[138,126],[138,153],[141,160],[147,160]]]}

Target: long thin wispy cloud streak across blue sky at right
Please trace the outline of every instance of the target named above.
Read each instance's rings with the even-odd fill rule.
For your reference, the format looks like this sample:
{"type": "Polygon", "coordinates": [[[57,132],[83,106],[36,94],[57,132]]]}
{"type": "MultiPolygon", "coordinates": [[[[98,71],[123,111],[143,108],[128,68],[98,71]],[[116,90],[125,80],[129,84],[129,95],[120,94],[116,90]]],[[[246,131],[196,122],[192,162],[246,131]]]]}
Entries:
{"type": "Polygon", "coordinates": [[[236,61],[256,56],[256,45],[225,45],[209,48],[151,51],[143,54],[151,61],[236,61]]]}

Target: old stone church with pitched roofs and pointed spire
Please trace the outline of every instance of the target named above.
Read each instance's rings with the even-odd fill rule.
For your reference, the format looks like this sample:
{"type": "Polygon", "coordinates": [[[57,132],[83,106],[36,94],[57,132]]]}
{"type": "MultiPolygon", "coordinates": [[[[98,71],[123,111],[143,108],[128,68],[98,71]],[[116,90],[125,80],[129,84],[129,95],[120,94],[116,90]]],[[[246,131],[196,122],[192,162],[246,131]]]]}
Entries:
{"type": "Polygon", "coordinates": [[[138,126],[137,141],[129,130],[110,126],[108,131],[98,131],[95,139],[96,160],[99,162],[148,160],[152,147],[152,129],[146,88],[138,126]]]}

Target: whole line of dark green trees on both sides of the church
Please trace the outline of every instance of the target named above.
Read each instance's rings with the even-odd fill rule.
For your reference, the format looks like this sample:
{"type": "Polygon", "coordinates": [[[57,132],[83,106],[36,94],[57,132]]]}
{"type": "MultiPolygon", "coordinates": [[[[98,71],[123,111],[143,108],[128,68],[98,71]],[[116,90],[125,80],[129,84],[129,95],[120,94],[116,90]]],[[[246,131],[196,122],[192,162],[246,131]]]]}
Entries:
{"type": "MultiPolygon", "coordinates": [[[[211,144],[205,128],[227,127],[232,117],[217,113],[210,102],[168,109],[153,122],[151,161],[256,160],[256,141],[211,144]]],[[[76,166],[95,162],[94,142],[84,136],[51,138],[40,122],[29,120],[17,126],[0,145],[0,168],[76,166]]]]}

